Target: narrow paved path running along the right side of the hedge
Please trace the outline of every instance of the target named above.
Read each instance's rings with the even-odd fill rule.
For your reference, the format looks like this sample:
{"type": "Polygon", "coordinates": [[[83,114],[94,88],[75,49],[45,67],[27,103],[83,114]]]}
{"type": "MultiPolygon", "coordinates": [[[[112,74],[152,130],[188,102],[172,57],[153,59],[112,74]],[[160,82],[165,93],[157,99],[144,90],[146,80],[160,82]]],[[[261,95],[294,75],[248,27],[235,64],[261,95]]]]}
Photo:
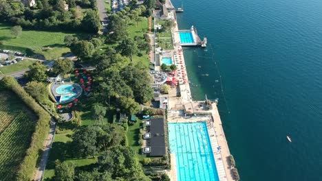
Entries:
{"type": "Polygon", "coordinates": [[[43,173],[46,168],[50,148],[52,147],[52,142],[54,142],[55,130],[56,122],[54,122],[54,119],[52,119],[52,121],[50,121],[50,132],[47,135],[45,143],[43,144],[43,156],[41,156],[41,162],[39,163],[39,167],[34,175],[35,181],[41,181],[43,179],[43,173]]]}

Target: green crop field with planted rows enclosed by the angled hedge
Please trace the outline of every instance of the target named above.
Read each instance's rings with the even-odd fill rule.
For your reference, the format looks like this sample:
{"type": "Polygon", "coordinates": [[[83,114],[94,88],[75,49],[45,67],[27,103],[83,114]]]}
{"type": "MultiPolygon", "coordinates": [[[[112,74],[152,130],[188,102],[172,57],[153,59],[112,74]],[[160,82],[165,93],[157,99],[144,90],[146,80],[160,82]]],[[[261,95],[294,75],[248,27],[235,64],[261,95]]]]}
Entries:
{"type": "Polygon", "coordinates": [[[0,90],[0,105],[0,180],[14,180],[37,118],[9,91],[0,90]]]}

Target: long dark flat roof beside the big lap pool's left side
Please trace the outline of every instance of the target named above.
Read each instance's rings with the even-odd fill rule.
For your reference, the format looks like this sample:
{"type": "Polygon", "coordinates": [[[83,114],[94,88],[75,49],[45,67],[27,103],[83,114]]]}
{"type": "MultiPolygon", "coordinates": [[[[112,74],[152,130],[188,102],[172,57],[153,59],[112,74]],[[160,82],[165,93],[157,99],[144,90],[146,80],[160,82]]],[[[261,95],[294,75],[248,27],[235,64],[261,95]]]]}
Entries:
{"type": "Polygon", "coordinates": [[[164,156],[166,154],[164,138],[164,119],[153,118],[150,125],[151,138],[147,141],[151,147],[149,156],[164,156]]]}

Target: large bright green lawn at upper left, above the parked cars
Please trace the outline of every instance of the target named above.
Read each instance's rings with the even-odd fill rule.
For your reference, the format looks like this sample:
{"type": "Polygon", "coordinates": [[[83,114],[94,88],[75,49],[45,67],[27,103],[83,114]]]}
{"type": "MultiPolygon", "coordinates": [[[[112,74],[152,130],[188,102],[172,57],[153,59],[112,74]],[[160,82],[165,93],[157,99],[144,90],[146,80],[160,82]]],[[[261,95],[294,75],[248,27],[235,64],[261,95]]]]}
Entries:
{"type": "Polygon", "coordinates": [[[67,35],[74,35],[63,32],[41,32],[23,30],[21,36],[14,38],[10,34],[10,26],[0,23],[0,49],[9,49],[28,53],[33,56],[34,53],[42,55],[46,60],[52,60],[63,56],[69,52],[65,47],[63,40],[67,35]]]}

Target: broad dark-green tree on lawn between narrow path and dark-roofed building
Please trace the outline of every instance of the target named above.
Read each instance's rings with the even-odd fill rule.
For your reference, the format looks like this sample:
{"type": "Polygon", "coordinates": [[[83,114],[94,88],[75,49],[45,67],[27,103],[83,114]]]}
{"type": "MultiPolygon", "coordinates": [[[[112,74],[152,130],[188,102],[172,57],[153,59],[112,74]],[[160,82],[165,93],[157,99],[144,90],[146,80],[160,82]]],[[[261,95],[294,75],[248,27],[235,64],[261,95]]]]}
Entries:
{"type": "Polygon", "coordinates": [[[82,127],[73,134],[72,146],[76,156],[86,157],[95,156],[98,152],[96,147],[97,141],[97,126],[82,127]]]}

